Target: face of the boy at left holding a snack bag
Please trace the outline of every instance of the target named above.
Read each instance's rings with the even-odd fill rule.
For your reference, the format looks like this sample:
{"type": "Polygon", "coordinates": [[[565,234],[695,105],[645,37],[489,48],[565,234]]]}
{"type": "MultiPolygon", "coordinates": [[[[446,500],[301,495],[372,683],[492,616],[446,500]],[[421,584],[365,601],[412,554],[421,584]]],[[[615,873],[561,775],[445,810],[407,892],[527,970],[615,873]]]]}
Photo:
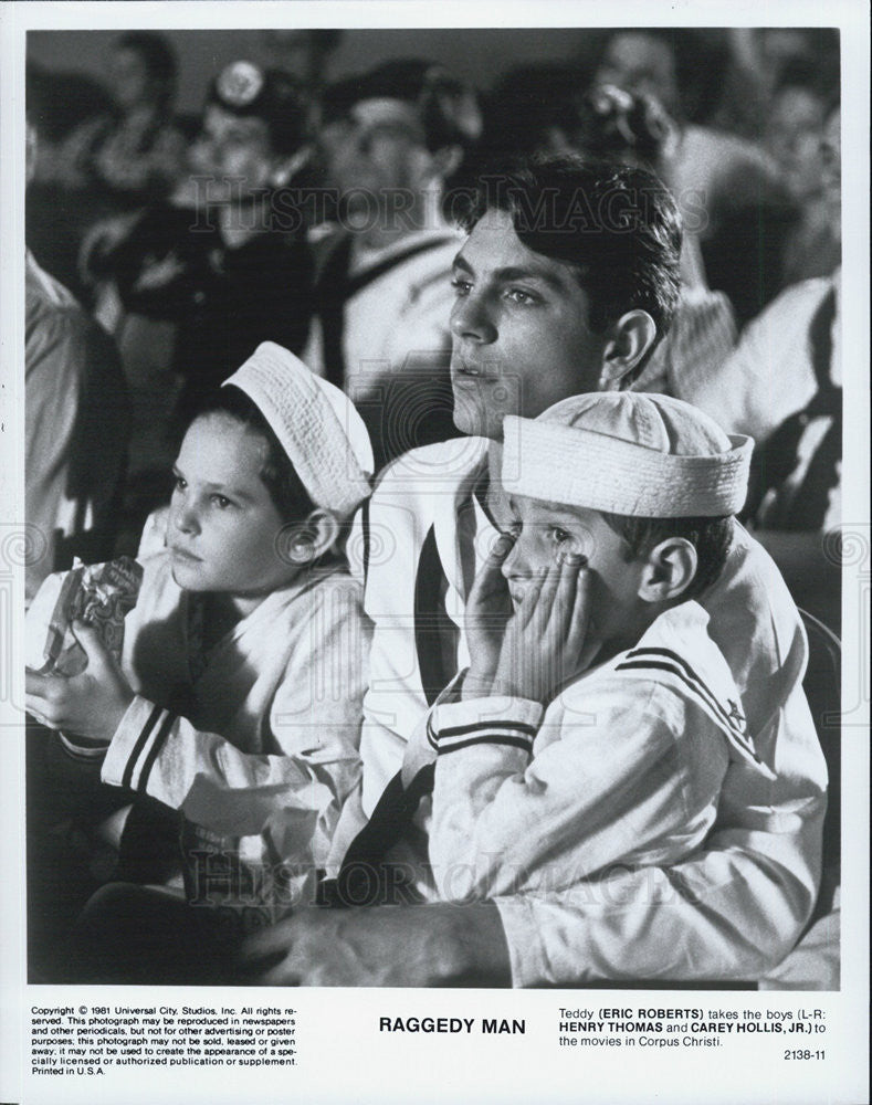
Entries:
{"type": "Polygon", "coordinates": [[[198,418],[175,465],[167,523],[172,577],[189,591],[265,596],[298,570],[280,555],[286,528],[260,477],[266,442],[234,418],[198,418]]]}

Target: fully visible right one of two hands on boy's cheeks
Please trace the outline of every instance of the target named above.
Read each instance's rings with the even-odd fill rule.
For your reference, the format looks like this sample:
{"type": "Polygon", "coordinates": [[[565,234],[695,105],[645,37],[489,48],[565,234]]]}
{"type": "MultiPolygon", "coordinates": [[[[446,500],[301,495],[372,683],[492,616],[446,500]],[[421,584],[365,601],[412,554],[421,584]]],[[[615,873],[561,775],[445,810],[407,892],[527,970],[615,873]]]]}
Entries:
{"type": "Polygon", "coordinates": [[[492,693],[546,704],[593,659],[586,564],[577,554],[558,556],[529,583],[506,629],[492,693]]]}

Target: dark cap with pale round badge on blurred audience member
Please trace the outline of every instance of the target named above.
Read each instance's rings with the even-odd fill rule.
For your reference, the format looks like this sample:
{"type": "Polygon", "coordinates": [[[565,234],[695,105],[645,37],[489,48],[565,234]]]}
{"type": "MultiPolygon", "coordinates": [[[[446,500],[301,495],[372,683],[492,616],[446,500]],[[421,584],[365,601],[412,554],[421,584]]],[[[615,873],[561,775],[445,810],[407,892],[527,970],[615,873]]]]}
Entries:
{"type": "Polygon", "coordinates": [[[294,154],[306,139],[307,108],[301,85],[282,70],[231,62],[212,81],[206,103],[242,118],[262,119],[276,154],[294,154]]]}

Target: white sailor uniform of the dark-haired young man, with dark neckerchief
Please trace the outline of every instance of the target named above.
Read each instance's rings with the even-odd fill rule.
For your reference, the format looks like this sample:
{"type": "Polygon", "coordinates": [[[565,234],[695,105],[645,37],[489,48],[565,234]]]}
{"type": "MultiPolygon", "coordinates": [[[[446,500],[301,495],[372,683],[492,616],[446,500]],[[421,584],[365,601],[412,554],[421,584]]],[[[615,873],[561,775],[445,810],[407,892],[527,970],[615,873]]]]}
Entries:
{"type": "MultiPolygon", "coordinates": [[[[469,664],[464,602],[496,538],[473,494],[488,445],[465,438],[400,457],[358,515],[349,559],[366,579],[375,630],[363,791],[346,803],[344,825],[371,814],[428,708],[469,664]]],[[[811,912],[827,769],[802,693],[801,621],[771,559],[738,525],[700,603],[773,778],[732,760],[703,850],[671,866],[623,870],[608,894],[593,876],[576,892],[497,897],[515,986],[756,979],[794,946],[811,912]]]]}

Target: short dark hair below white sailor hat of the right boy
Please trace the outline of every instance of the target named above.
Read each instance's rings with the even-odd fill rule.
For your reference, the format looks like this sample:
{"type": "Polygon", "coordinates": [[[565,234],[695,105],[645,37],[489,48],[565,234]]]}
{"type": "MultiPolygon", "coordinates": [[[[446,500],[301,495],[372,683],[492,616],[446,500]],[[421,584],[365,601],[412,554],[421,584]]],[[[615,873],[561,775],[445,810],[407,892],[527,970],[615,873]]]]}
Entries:
{"type": "Polygon", "coordinates": [[[695,599],[721,576],[733,541],[733,516],[721,518],[637,518],[600,512],[610,529],[623,540],[626,559],[639,560],[655,545],[680,537],[696,549],[696,573],[682,591],[682,601],[695,599]]]}

